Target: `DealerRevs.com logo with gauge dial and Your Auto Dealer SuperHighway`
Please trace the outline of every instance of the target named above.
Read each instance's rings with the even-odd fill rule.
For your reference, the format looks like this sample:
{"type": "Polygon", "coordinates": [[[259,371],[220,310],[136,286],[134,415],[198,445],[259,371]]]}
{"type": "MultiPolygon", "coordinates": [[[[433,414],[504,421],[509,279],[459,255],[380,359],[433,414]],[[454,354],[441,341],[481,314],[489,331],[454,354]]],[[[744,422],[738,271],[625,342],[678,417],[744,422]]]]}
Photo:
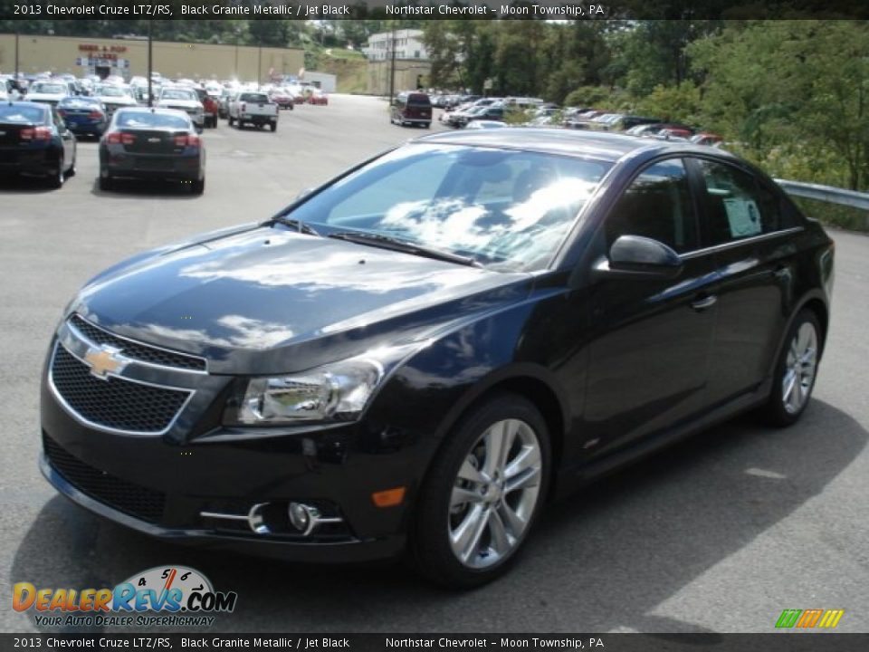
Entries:
{"type": "Polygon", "coordinates": [[[186,566],[157,566],[112,589],[13,587],[15,611],[33,609],[42,627],[210,626],[215,613],[235,609],[235,591],[215,591],[211,581],[186,566]]]}

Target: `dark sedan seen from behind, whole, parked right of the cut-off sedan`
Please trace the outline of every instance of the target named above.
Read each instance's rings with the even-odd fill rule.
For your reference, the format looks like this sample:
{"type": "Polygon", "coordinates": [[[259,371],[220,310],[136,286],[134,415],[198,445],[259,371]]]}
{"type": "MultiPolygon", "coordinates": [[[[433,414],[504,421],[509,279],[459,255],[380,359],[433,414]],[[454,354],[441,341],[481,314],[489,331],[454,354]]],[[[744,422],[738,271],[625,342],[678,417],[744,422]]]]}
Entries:
{"type": "Polygon", "coordinates": [[[205,190],[205,144],[189,116],[174,109],[119,109],[100,139],[100,190],[119,177],[174,179],[205,190]]]}

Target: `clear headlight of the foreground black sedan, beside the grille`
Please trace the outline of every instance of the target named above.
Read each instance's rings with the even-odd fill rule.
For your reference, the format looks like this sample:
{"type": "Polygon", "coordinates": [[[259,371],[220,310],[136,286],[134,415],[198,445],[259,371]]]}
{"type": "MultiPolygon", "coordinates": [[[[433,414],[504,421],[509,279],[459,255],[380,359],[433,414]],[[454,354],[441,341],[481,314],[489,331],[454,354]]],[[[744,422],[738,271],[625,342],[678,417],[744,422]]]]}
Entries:
{"type": "Polygon", "coordinates": [[[384,377],[376,360],[352,359],[291,376],[254,378],[224,415],[227,425],[271,426],[357,418],[384,377]]]}

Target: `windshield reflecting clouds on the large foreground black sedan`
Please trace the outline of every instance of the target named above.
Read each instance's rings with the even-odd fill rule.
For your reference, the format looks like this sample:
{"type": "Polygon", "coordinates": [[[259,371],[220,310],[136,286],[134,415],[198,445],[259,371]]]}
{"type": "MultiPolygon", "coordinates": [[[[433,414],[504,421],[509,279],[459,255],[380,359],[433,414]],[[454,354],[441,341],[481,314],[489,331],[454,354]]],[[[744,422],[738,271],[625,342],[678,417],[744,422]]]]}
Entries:
{"type": "Polygon", "coordinates": [[[610,163],[535,152],[409,145],[288,216],[320,233],[387,235],[504,271],[549,264],[610,163]]]}

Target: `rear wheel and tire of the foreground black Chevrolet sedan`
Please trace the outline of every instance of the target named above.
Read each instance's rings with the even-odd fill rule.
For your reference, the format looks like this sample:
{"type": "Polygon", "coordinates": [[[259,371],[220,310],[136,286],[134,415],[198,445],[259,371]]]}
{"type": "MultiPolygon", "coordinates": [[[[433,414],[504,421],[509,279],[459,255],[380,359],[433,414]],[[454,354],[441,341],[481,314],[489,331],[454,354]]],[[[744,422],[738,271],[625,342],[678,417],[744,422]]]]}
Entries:
{"type": "Polygon", "coordinates": [[[821,333],[815,312],[803,309],[797,313],[778,355],[769,402],[761,409],[770,426],[791,426],[806,411],[817,378],[821,333]]]}

